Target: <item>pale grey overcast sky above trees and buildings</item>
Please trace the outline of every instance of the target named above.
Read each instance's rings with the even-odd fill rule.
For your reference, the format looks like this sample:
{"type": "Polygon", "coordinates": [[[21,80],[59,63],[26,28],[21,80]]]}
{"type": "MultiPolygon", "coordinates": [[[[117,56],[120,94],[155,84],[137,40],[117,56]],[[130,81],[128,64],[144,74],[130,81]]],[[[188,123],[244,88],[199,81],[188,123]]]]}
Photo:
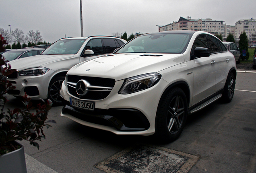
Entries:
{"type": "MultiPolygon", "coordinates": [[[[158,32],[158,26],[192,19],[256,18],[253,0],[82,0],[84,36],[158,32]]],[[[81,36],[80,0],[0,0],[0,28],[39,30],[47,42],[81,36]]]]}

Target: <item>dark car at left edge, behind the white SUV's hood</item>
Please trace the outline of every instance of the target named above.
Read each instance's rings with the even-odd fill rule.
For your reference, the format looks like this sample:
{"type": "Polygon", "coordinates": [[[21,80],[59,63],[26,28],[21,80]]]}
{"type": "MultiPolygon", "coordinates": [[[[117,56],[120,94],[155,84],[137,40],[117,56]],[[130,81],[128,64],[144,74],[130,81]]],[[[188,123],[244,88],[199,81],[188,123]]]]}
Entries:
{"type": "Polygon", "coordinates": [[[25,58],[28,56],[35,56],[41,54],[45,48],[24,48],[24,49],[12,49],[2,53],[4,58],[8,61],[25,58]]]}

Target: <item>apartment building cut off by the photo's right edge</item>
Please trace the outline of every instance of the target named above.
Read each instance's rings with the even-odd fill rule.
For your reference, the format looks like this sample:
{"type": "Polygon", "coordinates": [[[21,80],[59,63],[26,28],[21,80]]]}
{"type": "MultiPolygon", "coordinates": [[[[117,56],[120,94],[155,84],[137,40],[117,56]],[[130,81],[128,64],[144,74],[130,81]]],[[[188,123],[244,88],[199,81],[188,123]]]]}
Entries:
{"type": "Polygon", "coordinates": [[[242,32],[246,32],[248,42],[251,45],[256,44],[256,20],[251,19],[243,19],[235,22],[235,40],[239,40],[239,36],[242,32]]]}

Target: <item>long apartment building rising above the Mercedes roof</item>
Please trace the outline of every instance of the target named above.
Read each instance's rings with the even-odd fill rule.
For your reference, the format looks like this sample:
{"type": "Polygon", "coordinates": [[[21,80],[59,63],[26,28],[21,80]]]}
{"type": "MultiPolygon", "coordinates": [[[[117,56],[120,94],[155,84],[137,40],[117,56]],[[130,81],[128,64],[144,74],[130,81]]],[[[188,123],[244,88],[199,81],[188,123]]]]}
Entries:
{"type": "MultiPolygon", "coordinates": [[[[158,26],[158,25],[157,25],[158,26]]],[[[167,24],[165,26],[158,26],[159,32],[168,30],[198,30],[206,31],[213,35],[221,34],[226,37],[224,20],[213,20],[211,18],[206,19],[191,19],[191,17],[180,19],[177,22],[167,24]]]]}

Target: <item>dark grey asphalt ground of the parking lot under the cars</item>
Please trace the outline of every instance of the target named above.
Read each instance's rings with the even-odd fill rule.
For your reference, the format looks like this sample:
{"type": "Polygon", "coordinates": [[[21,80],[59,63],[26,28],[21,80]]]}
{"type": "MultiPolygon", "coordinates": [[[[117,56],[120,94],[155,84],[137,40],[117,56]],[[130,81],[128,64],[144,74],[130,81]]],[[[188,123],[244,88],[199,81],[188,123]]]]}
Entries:
{"type": "MultiPolygon", "coordinates": [[[[231,103],[221,101],[188,117],[180,138],[163,144],[151,136],[119,136],[60,117],[53,107],[40,148],[25,147],[28,173],[255,173],[256,73],[237,72],[231,103]]],[[[6,108],[21,103],[8,96],[6,108]]]]}

